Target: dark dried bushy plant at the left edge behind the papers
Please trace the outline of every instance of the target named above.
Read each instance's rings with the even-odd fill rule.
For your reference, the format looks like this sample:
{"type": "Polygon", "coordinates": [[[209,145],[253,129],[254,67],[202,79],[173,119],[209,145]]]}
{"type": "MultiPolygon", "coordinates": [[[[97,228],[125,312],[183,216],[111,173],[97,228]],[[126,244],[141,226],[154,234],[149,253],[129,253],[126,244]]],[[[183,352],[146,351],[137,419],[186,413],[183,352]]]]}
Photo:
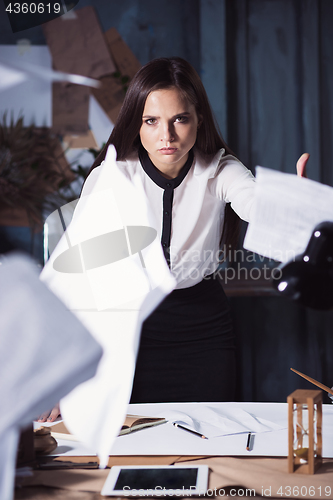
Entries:
{"type": "Polygon", "coordinates": [[[24,209],[40,224],[45,203],[74,179],[58,137],[47,127],[23,126],[23,117],[0,121],[0,208],[24,209]]]}

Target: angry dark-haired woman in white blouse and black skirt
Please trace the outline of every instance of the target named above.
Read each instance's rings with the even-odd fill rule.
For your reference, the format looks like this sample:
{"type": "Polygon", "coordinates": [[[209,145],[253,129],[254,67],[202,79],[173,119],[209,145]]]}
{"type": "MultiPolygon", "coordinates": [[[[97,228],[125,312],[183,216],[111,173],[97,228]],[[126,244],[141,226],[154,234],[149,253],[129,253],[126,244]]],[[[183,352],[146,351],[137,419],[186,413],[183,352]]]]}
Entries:
{"type": "MultiPolygon", "coordinates": [[[[229,249],[238,239],[238,216],[250,219],[254,178],[217,132],[199,76],[178,57],[139,70],[92,169],[109,144],[123,172],[141,176],[177,280],[143,324],[131,402],[232,401],[234,335],[214,272],[221,242],[229,249]]],[[[299,160],[299,175],[307,159],[299,160]]],[[[40,420],[58,413],[57,406],[40,420]]]]}

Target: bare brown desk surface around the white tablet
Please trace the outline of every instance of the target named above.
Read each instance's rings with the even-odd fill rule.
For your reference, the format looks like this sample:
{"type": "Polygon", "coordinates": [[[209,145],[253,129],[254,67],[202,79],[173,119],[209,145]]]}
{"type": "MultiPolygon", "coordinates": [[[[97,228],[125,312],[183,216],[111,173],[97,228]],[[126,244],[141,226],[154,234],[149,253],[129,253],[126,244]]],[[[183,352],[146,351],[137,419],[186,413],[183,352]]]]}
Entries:
{"type": "MultiPolygon", "coordinates": [[[[213,497],[216,488],[218,497],[235,499],[254,497],[254,492],[256,497],[270,499],[333,499],[333,459],[324,459],[322,467],[312,476],[288,474],[286,458],[146,456],[110,457],[109,461],[110,466],[161,463],[209,465],[209,489],[213,497]]],[[[105,498],[99,491],[107,474],[108,470],[38,471],[25,486],[16,489],[15,500],[100,500],[105,498]]]]}

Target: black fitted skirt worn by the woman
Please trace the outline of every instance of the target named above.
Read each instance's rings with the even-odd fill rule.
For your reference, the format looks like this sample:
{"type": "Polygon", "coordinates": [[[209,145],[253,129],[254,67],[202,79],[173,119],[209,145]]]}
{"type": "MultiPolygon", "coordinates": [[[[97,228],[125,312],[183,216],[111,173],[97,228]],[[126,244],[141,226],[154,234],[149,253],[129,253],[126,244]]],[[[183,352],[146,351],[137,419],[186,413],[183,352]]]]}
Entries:
{"type": "Polygon", "coordinates": [[[174,290],[144,322],[131,403],[233,401],[235,341],[213,275],[174,290]]]}

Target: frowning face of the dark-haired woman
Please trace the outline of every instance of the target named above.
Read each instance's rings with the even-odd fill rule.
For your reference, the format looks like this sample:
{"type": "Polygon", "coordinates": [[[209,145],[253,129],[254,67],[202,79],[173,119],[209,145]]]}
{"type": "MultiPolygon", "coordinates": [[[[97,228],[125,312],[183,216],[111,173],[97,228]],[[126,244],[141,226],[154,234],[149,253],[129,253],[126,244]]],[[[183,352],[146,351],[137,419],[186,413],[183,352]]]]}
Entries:
{"type": "Polygon", "coordinates": [[[146,100],[140,139],[162,175],[177,177],[197,138],[196,109],[177,88],[155,90],[146,100]]]}

